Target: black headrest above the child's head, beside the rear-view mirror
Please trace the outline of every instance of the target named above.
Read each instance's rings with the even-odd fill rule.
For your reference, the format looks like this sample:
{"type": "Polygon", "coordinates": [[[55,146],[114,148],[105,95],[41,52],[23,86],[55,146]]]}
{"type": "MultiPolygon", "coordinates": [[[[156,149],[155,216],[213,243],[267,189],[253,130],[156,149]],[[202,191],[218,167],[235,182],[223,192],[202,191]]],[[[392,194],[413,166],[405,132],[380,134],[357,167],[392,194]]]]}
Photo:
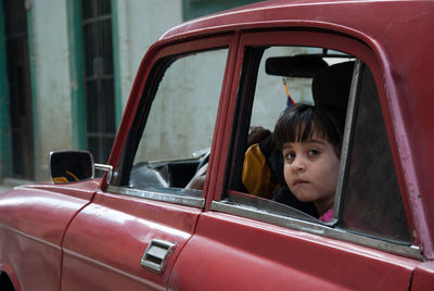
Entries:
{"type": "Polygon", "coordinates": [[[316,105],[337,106],[346,111],[354,63],[354,61],[337,63],[314,76],[311,90],[316,105]]]}

